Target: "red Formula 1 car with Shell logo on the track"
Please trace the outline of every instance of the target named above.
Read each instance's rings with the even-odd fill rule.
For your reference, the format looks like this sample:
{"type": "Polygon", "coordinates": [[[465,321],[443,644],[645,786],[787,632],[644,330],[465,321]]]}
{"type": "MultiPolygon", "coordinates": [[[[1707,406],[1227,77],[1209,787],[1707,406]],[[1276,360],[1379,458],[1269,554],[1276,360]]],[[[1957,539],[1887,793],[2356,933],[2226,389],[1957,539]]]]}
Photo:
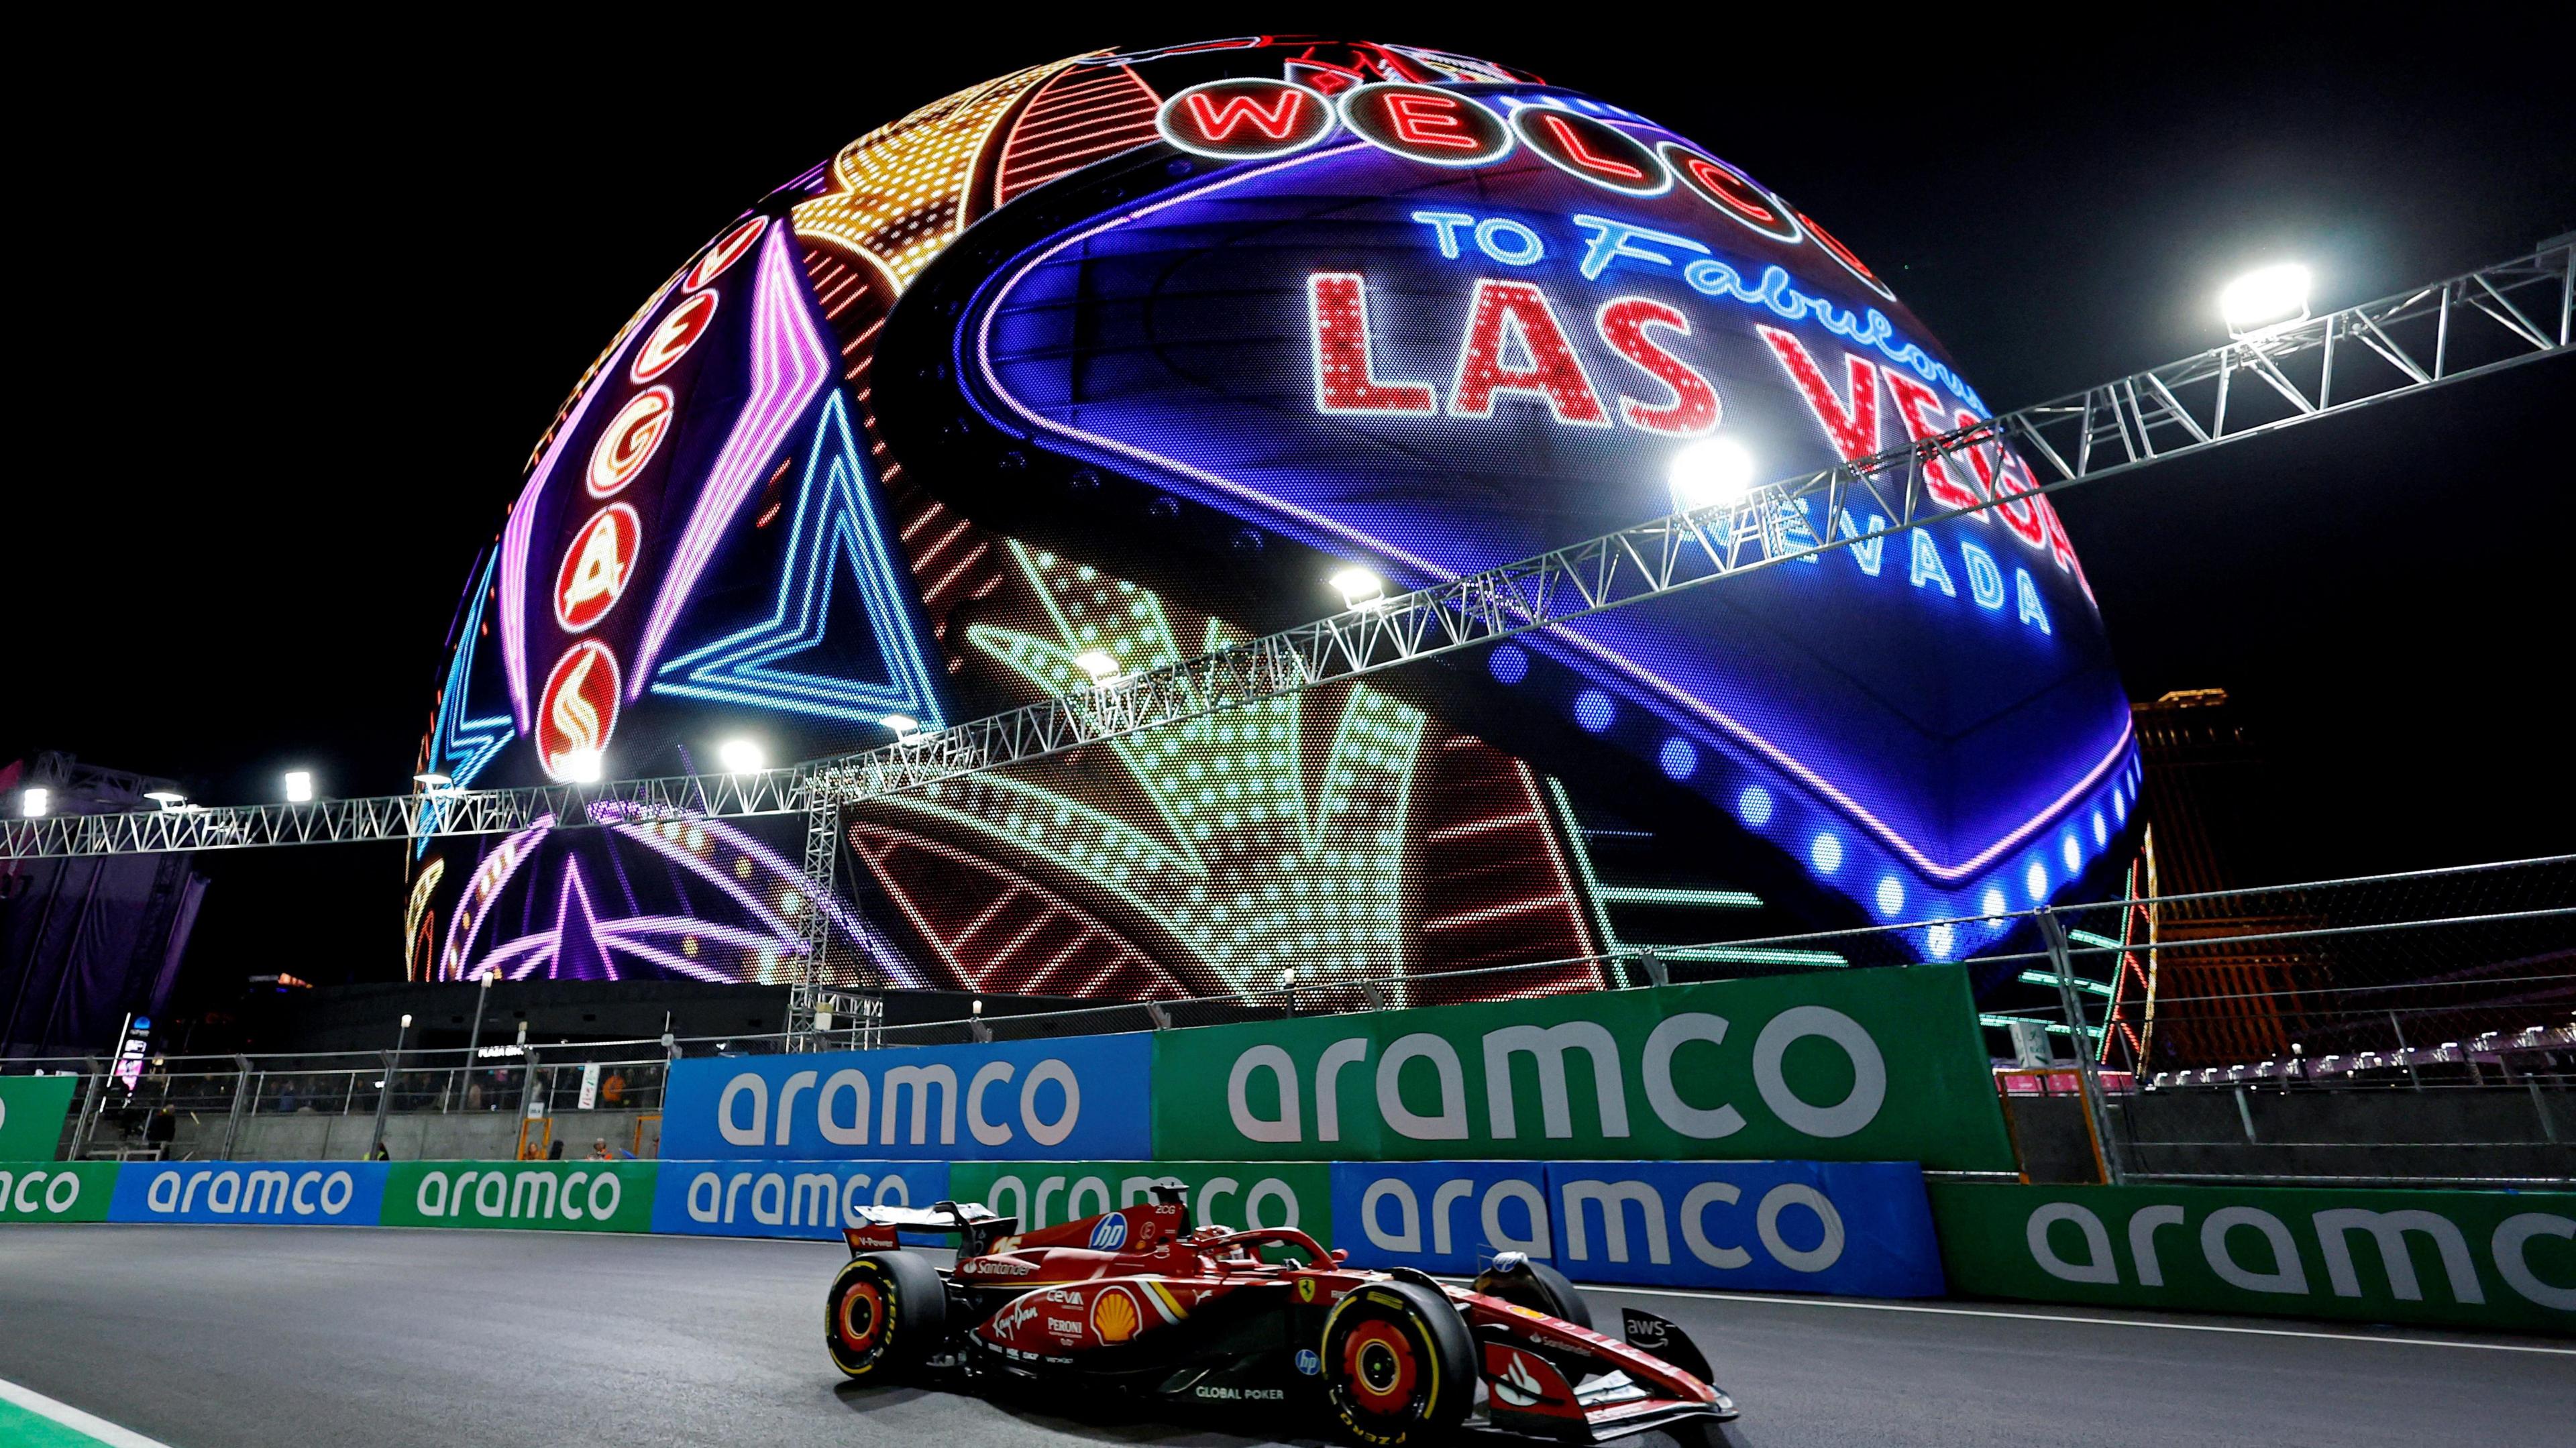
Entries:
{"type": "Polygon", "coordinates": [[[824,1301],[832,1363],[860,1381],[953,1376],[1249,1409],[1311,1407],[1378,1448],[1479,1427],[1602,1443],[1649,1427],[1718,1443],[1736,1404],[1662,1317],[1592,1329],[1582,1293],[1520,1252],[1471,1288],[1345,1268],[1296,1229],[1190,1226],[1180,1190],[1018,1232],[971,1203],[871,1208],[824,1301]],[[953,1234],[956,1268],[896,1244],[953,1234]],[[1296,1257],[1285,1262],[1262,1260],[1296,1257]]]}

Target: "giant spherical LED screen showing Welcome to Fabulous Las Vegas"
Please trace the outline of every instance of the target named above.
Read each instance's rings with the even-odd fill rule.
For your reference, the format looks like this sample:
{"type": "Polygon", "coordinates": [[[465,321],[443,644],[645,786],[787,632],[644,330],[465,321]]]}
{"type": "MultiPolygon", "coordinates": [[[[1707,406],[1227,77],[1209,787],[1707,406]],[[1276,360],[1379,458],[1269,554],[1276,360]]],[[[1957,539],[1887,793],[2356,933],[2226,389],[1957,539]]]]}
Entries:
{"type": "MultiPolygon", "coordinates": [[[[1713,441],[1785,477],[1984,415],[1860,258],[1649,119],[1404,46],[1074,57],[842,147],[634,314],[477,564],[425,768],[873,745],[1061,693],[1092,649],[1314,618],[1340,567],[1422,585],[1667,513],[1713,441]]],[[[1994,453],[1932,487],[2020,479],[1994,453]]],[[[412,971],[781,979],[819,907],[835,969],[894,984],[1422,982],[2087,891],[2133,791],[2081,564],[2027,497],[871,804],[850,899],[806,902],[760,824],[446,843],[412,971]]]]}

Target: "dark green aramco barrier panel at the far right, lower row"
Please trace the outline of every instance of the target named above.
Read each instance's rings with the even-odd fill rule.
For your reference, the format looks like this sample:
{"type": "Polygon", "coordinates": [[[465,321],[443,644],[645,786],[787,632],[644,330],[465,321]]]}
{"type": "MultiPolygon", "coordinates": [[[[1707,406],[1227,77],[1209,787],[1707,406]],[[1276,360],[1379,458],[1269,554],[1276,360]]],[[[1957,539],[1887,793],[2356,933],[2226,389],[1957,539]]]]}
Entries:
{"type": "Polygon", "coordinates": [[[1924,1185],[1955,1293],[2576,1335],[2576,1193],[1924,1185]]]}

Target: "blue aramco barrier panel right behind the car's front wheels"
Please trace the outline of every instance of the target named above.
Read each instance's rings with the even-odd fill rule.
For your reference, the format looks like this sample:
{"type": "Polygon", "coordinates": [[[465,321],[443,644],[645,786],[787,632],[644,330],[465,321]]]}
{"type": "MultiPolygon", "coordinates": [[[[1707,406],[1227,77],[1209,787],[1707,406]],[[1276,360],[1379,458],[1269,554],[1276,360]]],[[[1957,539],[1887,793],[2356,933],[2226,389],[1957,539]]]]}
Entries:
{"type": "Polygon", "coordinates": [[[1530,1252],[1579,1283],[1945,1291],[1914,1162],[1337,1162],[1332,1208],[1370,1268],[1530,1252]]]}

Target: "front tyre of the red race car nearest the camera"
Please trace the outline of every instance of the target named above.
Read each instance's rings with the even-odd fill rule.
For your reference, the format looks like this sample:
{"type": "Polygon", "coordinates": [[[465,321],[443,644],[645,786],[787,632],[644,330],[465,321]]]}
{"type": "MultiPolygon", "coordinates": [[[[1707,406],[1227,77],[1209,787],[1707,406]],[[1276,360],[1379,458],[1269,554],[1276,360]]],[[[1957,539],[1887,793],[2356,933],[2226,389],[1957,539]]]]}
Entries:
{"type": "Polygon", "coordinates": [[[1324,1319],[1324,1394],[1360,1443],[1440,1440],[1476,1404],[1476,1340],[1437,1291],[1370,1283],[1324,1319]]]}

